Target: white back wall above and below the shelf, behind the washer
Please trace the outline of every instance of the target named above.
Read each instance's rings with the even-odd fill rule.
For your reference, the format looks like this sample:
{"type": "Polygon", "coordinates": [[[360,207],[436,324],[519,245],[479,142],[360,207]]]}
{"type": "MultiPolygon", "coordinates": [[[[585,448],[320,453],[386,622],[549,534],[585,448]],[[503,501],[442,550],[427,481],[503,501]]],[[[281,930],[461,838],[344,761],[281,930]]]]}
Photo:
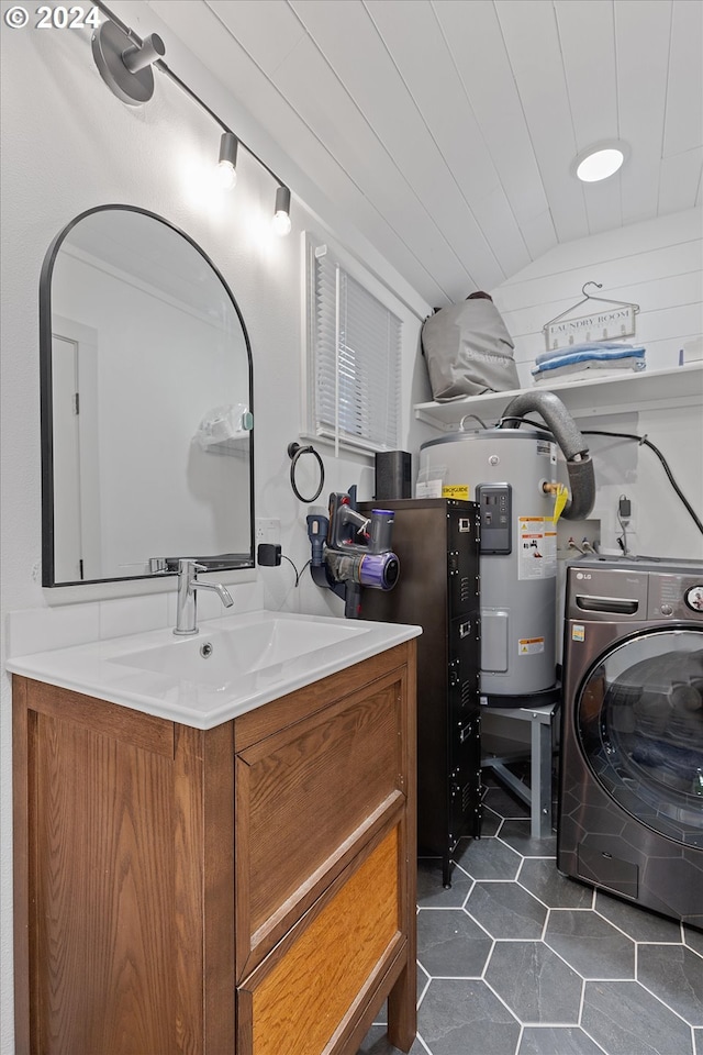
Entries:
{"type": "MultiPolygon", "coordinates": [[[[636,333],[623,340],[644,345],[647,369],[676,369],[679,351],[703,332],[703,216],[700,209],[633,224],[559,245],[493,290],[515,343],[521,381],[532,386],[535,356],[545,351],[542,327],[588,292],[639,304],[636,333]]],[[[591,307],[598,307],[591,306],[591,307]]],[[[606,307],[606,306],[602,306],[606,307]]],[[[589,304],[569,314],[588,314],[589,304]]],[[[544,382],[543,382],[544,384],[544,382]]],[[[691,382],[699,396],[701,374],[691,382]]],[[[545,386],[548,387],[548,386],[545,386]]],[[[694,407],[638,410],[589,417],[579,427],[646,435],[665,455],[687,498],[703,517],[703,410],[694,407]]],[[[629,441],[587,436],[598,497],[591,514],[601,520],[602,543],[617,551],[622,534],[617,500],[632,501],[635,529],[628,542],[649,556],[703,557],[703,536],[670,487],[655,454],[629,441]]],[[[573,525],[578,538],[578,525],[573,525]]]]}

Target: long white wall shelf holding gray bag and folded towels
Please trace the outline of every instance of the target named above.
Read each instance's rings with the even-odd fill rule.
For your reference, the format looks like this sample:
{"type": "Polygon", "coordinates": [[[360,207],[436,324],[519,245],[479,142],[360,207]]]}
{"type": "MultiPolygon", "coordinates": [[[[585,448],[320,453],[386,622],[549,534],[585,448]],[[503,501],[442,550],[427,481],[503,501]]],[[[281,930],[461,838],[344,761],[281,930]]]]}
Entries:
{"type": "MultiPolygon", "coordinates": [[[[687,363],[670,370],[643,370],[641,374],[623,370],[623,376],[610,375],[592,380],[555,380],[544,387],[534,385],[513,392],[467,396],[448,403],[415,403],[415,418],[443,432],[459,432],[461,419],[467,414],[478,414],[491,425],[499,420],[511,399],[525,391],[554,392],[574,418],[696,407],[703,402],[703,362],[687,363]]],[[[469,420],[467,430],[473,427],[478,427],[478,422],[469,420]]]]}

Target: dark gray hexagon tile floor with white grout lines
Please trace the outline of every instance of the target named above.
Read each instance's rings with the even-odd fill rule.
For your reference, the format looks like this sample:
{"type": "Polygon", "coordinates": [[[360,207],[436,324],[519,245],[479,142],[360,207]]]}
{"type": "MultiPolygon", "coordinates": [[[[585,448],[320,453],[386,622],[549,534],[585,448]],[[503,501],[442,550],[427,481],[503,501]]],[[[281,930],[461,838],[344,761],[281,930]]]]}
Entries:
{"type": "MultiPolygon", "coordinates": [[[[557,871],[494,775],[480,840],[417,868],[410,1055],[703,1055],[703,934],[557,871]]],[[[379,1017],[359,1055],[398,1055],[379,1017]]]]}

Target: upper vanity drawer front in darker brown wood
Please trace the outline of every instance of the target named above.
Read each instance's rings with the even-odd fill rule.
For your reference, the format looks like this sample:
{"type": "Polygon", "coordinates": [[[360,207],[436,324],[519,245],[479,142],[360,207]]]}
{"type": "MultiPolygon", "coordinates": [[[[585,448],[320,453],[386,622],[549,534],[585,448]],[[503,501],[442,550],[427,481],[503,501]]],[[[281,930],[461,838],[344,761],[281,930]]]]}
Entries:
{"type": "Polygon", "coordinates": [[[405,682],[397,669],[236,755],[238,978],[404,804],[405,682]]]}

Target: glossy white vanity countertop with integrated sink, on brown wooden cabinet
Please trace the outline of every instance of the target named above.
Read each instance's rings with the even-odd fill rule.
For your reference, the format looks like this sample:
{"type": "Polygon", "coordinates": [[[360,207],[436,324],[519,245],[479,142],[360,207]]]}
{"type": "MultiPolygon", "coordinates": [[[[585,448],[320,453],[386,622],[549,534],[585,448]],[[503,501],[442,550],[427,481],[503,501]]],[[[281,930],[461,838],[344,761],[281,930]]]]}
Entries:
{"type": "Polygon", "coordinates": [[[203,621],[193,637],[178,638],[170,629],[155,630],[14,656],[7,667],[13,674],[145,714],[194,729],[212,729],[421,633],[422,628],[402,623],[258,611],[203,621]],[[313,647],[303,648],[302,654],[287,655],[282,662],[277,662],[275,654],[270,659],[264,656],[258,660],[250,655],[241,656],[245,667],[256,664],[256,668],[237,671],[237,641],[248,643],[253,631],[264,630],[264,624],[269,623],[277,624],[279,638],[284,636],[290,623],[295,641],[308,642],[304,648],[313,647]],[[323,641],[337,634],[342,640],[315,647],[316,632],[323,641]],[[210,666],[200,655],[205,644],[212,645],[210,666]],[[227,666],[228,649],[235,658],[232,669],[222,674],[227,666]],[[192,675],[193,670],[204,671],[207,677],[192,675]]]}

